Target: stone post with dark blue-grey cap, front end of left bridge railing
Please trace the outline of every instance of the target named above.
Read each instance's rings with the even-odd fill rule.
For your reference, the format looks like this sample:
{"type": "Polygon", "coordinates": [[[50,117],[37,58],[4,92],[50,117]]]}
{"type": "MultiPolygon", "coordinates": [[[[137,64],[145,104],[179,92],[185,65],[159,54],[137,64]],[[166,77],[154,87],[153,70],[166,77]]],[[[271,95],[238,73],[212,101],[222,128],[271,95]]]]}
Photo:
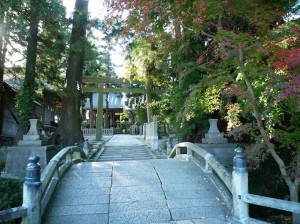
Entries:
{"type": "Polygon", "coordinates": [[[39,160],[39,156],[32,154],[26,168],[26,179],[23,185],[23,206],[27,208],[27,216],[23,218],[23,224],[41,223],[42,182],[39,160]]]}

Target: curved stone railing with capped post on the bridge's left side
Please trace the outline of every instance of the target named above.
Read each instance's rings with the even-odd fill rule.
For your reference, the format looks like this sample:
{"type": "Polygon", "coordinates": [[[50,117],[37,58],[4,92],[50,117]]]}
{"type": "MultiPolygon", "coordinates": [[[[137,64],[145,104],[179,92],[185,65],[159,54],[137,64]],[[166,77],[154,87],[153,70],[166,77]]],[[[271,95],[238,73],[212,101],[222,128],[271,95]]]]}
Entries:
{"type": "Polygon", "coordinates": [[[50,160],[41,175],[39,156],[33,154],[26,168],[23,205],[0,211],[0,222],[22,218],[22,223],[40,224],[56,185],[73,163],[86,158],[80,147],[66,147],[50,160]]]}

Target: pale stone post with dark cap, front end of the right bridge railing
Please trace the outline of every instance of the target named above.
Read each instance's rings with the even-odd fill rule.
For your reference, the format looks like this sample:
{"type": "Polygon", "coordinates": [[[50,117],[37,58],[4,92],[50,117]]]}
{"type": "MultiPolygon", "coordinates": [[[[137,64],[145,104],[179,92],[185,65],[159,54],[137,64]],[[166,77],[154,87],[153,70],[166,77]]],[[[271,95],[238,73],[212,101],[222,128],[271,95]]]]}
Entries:
{"type": "Polygon", "coordinates": [[[248,171],[244,150],[241,147],[235,149],[232,172],[232,199],[233,216],[239,221],[249,218],[249,205],[243,201],[243,195],[248,193],[248,171]]]}

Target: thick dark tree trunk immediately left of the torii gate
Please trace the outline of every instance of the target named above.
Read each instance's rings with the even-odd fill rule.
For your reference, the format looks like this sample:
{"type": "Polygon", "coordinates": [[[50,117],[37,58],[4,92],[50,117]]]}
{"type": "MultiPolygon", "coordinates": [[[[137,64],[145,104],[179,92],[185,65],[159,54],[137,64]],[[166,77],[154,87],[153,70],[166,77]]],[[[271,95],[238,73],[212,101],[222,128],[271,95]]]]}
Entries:
{"type": "Polygon", "coordinates": [[[83,142],[80,105],[87,12],[88,0],[76,0],[66,87],[62,96],[62,117],[54,134],[54,138],[62,139],[63,146],[83,142]]]}

